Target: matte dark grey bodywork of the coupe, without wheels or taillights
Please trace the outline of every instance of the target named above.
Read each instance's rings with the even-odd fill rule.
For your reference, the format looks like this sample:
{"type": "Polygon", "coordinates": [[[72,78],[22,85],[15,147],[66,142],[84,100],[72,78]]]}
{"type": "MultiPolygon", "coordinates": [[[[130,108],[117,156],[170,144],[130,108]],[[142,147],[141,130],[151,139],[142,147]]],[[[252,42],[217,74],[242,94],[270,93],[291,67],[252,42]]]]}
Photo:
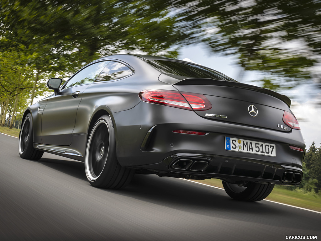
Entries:
{"type": "Polygon", "coordinates": [[[191,65],[154,56],[113,55],[82,68],[60,87],[58,94],[26,109],[22,121],[31,114],[33,148],[85,161],[93,126],[101,116],[108,116],[115,135],[117,161],[136,173],[219,178],[239,186],[247,182],[301,182],[305,144],[300,130],[282,120],[285,113],[291,113],[291,101],[286,96],[236,82],[218,72],[221,79],[173,75],[158,67],[162,61],[191,65]],[[103,71],[108,72],[104,75],[97,67],[98,74],[93,79],[68,84],[86,68],[94,64],[105,66],[106,61],[113,61],[108,63],[115,66],[120,63],[126,70],[108,74],[104,67],[103,71]],[[212,107],[187,110],[148,103],[139,94],[145,90],[201,94],[212,107]],[[256,108],[255,116],[249,113],[251,105],[256,108]],[[275,145],[276,156],[227,150],[226,138],[275,145]]]}

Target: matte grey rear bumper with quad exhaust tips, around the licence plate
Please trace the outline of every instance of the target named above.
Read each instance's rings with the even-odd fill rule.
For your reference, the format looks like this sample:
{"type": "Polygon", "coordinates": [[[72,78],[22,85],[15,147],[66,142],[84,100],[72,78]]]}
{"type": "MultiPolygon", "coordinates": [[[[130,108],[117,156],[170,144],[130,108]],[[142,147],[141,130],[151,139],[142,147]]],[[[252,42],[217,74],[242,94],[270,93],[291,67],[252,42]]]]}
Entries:
{"type": "Polygon", "coordinates": [[[115,123],[117,158],[122,166],[148,169],[160,175],[215,177],[229,182],[251,180],[298,185],[301,181],[304,152],[289,147],[291,144],[305,149],[299,130],[281,132],[212,121],[192,111],[144,102],[111,116],[115,123]],[[128,116],[132,118],[129,120],[128,116]],[[207,134],[182,134],[173,130],[207,134]],[[274,144],[276,156],[225,150],[225,137],[274,144]],[[180,158],[191,159],[187,161],[191,165],[185,170],[177,168],[180,158]]]}

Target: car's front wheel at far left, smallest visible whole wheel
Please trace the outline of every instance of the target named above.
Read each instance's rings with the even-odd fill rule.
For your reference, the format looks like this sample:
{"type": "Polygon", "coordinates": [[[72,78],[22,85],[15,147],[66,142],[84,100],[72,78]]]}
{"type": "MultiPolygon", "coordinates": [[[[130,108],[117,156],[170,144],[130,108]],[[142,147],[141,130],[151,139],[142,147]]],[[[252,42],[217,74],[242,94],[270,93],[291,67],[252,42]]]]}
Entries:
{"type": "Polygon", "coordinates": [[[33,130],[31,114],[27,114],[19,134],[19,155],[23,159],[39,160],[43,151],[33,148],[33,130]]]}

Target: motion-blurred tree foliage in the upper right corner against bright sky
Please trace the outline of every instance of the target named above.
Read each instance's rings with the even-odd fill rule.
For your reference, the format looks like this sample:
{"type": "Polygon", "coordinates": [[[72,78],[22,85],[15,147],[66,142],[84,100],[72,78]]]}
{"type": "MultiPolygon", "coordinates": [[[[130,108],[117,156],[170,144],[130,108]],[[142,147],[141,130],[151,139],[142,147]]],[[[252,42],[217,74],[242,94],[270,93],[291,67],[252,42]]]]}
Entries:
{"type": "Polygon", "coordinates": [[[320,0],[172,0],[189,42],[238,56],[244,70],[269,74],[277,89],[321,80],[320,0]],[[282,82],[280,82],[280,79],[282,82]]]}

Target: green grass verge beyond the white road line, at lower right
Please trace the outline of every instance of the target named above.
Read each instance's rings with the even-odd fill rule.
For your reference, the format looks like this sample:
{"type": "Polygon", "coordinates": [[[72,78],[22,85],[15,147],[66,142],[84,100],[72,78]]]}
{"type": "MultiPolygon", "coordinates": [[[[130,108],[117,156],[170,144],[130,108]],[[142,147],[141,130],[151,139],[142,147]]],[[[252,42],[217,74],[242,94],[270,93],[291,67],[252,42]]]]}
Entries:
{"type": "MultiPolygon", "coordinates": [[[[223,188],[222,182],[219,179],[198,180],[196,182],[223,188]]],[[[278,185],[274,186],[273,191],[266,199],[321,212],[320,196],[291,191],[278,185]]]]}

